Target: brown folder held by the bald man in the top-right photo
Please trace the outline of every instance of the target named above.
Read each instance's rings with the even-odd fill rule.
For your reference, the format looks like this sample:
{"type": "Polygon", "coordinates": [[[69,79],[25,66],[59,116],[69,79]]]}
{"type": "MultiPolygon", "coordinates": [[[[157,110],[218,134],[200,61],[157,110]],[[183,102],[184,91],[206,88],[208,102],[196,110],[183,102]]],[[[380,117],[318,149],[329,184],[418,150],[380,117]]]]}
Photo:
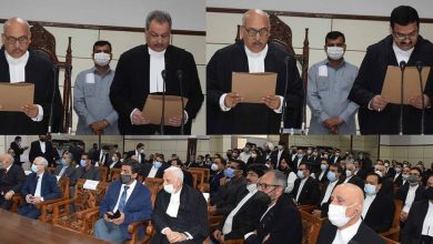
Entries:
{"type": "Polygon", "coordinates": [[[262,103],[262,98],[275,94],[276,73],[232,73],[232,92],[238,92],[244,103],[262,103]]]}

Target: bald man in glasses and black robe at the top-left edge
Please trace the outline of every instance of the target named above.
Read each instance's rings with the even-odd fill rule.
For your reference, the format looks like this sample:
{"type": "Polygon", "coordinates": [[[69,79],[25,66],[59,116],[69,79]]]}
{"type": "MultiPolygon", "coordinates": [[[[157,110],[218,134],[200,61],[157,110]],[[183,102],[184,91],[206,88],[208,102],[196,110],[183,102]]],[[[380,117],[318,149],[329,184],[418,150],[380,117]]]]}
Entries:
{"type": "MultiPolygon", "coordinates": [[[[60,128],[61,99],[54,88],[53,65],[48,57],[29,50],[29,23],[20,18],[8,19],[1,34],[4,48],[0,50],[0,82],[34,84],[33,104],[20,111],[0,112],[0,134],[43,134],[48,131],[53,102],[53,132],[60,128]]],[[[18,95],[18,94],[16,94],[18,95]]]]}

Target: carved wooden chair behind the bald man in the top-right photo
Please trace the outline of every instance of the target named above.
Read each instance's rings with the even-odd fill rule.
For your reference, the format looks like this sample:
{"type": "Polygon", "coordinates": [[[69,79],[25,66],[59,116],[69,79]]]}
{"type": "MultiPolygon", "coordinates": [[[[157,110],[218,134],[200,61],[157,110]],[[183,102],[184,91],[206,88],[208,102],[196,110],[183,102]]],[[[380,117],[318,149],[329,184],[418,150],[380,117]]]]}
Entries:
{"type": "MultiPolygon", "coordinates": [[[[271,22],[271,33],[269,37],[269,42],[280,44],[284,50],[286,50],[300,64],[301,67],[301,79],[304,87],[304,101],[301,110],[293,110],[291,112],[288,111],[288,116],[285,118],[285,121],[293,120],[291,116],[289,116],[290,113],[292,114],[300,114],[300,121],[293,121],[293,124],[301,124],[305,122],[306,120],[306,83],[309,80],[309,57],[310,57],[310,41],[309,41],[309,28],[305,28],[305,37],[302,48],[302,54],[296,54],[293,49],[292,44],[292,29],[284,23],[280,18],[278,18],[278,12],[269,12],[269,20],[271,22]]],[[[238,24],[238,34],[235,38],[235,41],[241,40],[240,37],[240,30],[241,26],[238,24]]]]}

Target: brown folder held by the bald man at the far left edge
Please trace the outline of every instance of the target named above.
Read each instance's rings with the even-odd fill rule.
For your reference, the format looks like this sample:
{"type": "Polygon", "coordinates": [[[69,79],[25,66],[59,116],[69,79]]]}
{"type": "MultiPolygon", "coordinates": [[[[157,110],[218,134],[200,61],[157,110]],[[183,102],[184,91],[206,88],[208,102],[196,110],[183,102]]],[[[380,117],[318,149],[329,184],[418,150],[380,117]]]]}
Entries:
{"type": "Polygon", "coordinates": [[[33,83],[0,82],[0,111],[21,112],[21,108],[33,104],[33,83]]]}

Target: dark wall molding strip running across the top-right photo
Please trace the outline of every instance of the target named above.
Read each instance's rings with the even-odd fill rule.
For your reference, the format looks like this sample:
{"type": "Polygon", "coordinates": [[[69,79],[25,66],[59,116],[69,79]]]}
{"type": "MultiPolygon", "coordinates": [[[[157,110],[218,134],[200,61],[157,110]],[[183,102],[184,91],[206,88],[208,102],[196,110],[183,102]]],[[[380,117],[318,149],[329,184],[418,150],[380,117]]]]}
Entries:
{"type": "MultiPolygon", "coordinates": [[[[220,13],[244,13],[248,9],[231,9],[231,8],[207,8],[207,12],[220,13]]],[[[358,14],[341,14],[341,13],[312,13],[312,12],[292,12],[279,10],[265,10],[268,13],[284,17],[304,17],[304,18],[321,18],[321,19],[350,19],[350,20],[371,20],[371,21],[390,21],[390,17],[382,16],[358,16],[358,14]]],[[[421,18],[421,23],[433,23],[433,19],[421,18]]]]}

